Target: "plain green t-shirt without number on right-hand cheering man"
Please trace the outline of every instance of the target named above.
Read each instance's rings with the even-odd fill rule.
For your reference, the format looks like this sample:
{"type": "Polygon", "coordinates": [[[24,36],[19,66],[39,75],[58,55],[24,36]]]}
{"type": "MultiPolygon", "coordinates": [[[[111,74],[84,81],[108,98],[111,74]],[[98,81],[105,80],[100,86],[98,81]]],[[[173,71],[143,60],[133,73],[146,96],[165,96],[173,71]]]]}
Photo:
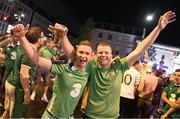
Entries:
{"type": "Polygon", "coordinates": [[[117,118],[119,116],[120,89],[123,73],[128,69],[127,59],[117,59],[108,69],[98,62],[88,64],[89,96],[85,113],[91,118],[117,118]]]}

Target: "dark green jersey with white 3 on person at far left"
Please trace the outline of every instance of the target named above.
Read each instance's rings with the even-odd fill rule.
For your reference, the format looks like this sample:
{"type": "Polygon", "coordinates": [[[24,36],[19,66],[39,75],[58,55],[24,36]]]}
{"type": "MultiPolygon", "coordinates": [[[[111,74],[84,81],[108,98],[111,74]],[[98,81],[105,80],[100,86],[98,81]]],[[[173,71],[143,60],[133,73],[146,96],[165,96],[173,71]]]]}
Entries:
{"type": "Polygon", "coordinates": [[[4,47],[4,53],[6,54],[7,63],[6,63],[6,70],[4,75],[8,76],[14,68],[14,62],[16,60],[16,50],[19,45],[13,46],[12,44],[8,44],[4,47]]]}

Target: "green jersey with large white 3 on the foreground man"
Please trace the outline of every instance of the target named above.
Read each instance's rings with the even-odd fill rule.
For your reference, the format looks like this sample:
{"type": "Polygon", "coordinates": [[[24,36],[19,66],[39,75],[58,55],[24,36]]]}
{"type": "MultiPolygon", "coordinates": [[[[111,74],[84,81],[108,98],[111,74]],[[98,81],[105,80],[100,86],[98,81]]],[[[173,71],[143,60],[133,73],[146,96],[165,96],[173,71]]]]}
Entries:
{"type": "Polygon", "coordinates": [[[73,114],[87,83],[88,74],[69,64],[52,65],[52,74],[56,75],[53,95],[47,110],[57,118],[67,118],[73,114]]]}

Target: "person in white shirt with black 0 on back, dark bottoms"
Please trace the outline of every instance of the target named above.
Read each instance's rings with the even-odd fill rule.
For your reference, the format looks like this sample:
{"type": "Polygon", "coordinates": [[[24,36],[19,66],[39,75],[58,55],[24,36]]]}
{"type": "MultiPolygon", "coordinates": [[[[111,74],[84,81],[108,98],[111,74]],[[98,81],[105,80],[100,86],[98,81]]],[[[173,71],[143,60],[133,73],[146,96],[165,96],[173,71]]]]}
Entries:
{"type": "Polygon", "coordinates": [[[120,118],[130,118],[133,115],[135,105],[135,95],[141,80],[140,75],[141,65],[139,60],[124,72],[121,92],[120,92],[120,118]]]}

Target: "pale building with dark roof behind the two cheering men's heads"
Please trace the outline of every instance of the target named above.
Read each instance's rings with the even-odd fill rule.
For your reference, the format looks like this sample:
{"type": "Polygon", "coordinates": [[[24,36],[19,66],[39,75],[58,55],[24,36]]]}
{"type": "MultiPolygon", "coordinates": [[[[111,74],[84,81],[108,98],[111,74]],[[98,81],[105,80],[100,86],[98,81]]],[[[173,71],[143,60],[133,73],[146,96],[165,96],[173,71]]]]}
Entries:
{"type": "Polygon", "coordinates": [[[135,49],[137,45],[136,40],[141,39],[140,35],[135,34],[135,30],[135,28],[107,23],[97,24],[96,28],[92,31],[94,49],[99,42],[106,41],[111,44],[114,57],[127,56],[135,49]]]}

